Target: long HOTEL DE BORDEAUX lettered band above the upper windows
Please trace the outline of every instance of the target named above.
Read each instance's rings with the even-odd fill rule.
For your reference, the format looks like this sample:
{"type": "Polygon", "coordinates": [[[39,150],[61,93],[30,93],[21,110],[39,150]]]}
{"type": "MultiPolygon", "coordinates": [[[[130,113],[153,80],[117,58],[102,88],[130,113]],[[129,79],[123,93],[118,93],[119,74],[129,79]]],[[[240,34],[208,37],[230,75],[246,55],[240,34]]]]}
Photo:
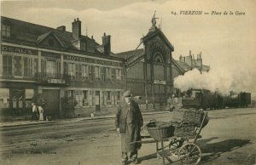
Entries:
{"type": "Polygon", "coordinates": [[[90,59],[86,57],[78,57],[73,55],[67,55],[64,57],[65,60],[74,60],[79,62],[88,62],[88,63],[95,63],[100,65],[114,65],[114,66],[122,66],[122,63],[108,61],[108,60],[97,60],[97,59],[90,59]]]}

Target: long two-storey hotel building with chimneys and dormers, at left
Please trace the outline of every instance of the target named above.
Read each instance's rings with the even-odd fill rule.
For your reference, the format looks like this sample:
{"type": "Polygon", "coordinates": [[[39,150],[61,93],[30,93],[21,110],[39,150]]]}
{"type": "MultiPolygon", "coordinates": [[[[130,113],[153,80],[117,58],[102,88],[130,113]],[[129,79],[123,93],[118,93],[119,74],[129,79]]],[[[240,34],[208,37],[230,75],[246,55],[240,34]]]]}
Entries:
{"type": "Polygon", "coordinates": [[[110,56],[110,36],[102,45],[82,35],[81,21],[73,31],[1,17],[0,108],[26,111],[32,97],[42,94],[50,116],[61,116],[61,97],[77,100],[76,114],[113,111],[124,91],[124,60],[110,56]]]}

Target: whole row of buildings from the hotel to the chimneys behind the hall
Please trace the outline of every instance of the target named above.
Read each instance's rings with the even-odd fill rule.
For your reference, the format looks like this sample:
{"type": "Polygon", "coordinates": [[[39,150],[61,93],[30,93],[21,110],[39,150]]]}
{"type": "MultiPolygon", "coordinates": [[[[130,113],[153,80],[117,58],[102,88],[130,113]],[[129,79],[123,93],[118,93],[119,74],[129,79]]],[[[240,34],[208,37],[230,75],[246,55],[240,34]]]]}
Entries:
{"type": "Polygon", "coordinates": [[[26,111],[37,94],[51,116],[61,116],[65,94],[77,100],[76,115],[114,111],[125,89],[142,96],[142,109],[160,109],[172,97],[174,77],[210,69],[201,54],[174,60],[172,43],[155,22],[140,38],[143,48],[119,54],[111,51],[111,36],[104,33],[100,44],[81,30],[79,19],[70,32],[1,16],[1,111],[26,111]]]}

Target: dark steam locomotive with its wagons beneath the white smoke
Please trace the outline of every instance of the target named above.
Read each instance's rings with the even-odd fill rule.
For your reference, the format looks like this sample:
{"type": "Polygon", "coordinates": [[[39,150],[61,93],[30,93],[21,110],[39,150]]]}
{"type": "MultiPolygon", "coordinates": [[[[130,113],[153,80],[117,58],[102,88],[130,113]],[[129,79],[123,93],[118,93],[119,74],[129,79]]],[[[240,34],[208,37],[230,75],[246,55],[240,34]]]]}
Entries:
{"type": "Polygon", "coordinates": [[[195,108],[195,109],[223,109],[247,107],[251,104],[251,93],[240,92],[229,95],[211,92],[207,89],[191,88],[180,94],[181,97],[173,97],[167,100],[167,108],[195,108]]]}

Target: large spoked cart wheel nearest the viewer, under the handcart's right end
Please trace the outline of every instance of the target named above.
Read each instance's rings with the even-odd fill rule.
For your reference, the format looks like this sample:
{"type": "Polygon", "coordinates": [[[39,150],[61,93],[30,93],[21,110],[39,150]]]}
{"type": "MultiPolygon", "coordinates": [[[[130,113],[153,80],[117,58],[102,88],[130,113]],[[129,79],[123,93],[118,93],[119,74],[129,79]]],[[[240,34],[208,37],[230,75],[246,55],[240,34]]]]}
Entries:
{"type": "Polygon", "coordinates": [[[183,164],[198,164],[201,161],[201,149],[194,143],[187,143],[179,149],[178,158],[183,164]]]}

